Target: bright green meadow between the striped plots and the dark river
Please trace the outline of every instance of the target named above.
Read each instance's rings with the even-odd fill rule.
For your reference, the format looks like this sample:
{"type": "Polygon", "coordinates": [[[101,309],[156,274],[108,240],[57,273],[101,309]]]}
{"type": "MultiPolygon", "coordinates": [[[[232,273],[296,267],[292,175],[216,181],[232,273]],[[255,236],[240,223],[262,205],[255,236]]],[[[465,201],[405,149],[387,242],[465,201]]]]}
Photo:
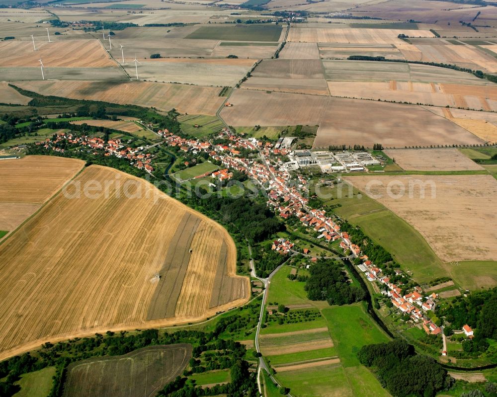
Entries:
{"type": "Polygon", "coordinates": [[[331,307],[321,313],[328,321],[331,338],[344,367],[360,365],[357,352],[362,346],[389,340],[366,313],[362,303],[331,307]]]}

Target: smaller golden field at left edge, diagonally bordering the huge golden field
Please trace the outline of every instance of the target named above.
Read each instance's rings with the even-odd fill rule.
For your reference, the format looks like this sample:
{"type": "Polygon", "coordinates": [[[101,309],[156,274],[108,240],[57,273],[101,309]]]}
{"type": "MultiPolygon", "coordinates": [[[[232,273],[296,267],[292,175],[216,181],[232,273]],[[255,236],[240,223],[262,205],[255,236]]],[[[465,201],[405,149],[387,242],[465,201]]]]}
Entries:
{"type": "Polygon", "coordinates": [[[14,231],[69,182],[83,165],[83,160],[51,156],[1,160],[0,230],[14,231]]]}

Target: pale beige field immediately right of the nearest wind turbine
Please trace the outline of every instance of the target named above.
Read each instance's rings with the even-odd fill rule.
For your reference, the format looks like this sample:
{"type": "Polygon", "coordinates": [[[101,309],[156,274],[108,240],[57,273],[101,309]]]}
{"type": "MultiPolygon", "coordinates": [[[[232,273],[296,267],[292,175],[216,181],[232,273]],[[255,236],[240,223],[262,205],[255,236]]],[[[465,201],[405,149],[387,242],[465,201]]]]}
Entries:
{"type": "MultiPolygon", "coordinates": [[[[249,59],[151,59],[140,62],[140,79],[216,86],[234,86],[254,63],[249,59]]],[[[136,73],[132,62],[124,65],[124,69],[130,76],[136,73]]]]}

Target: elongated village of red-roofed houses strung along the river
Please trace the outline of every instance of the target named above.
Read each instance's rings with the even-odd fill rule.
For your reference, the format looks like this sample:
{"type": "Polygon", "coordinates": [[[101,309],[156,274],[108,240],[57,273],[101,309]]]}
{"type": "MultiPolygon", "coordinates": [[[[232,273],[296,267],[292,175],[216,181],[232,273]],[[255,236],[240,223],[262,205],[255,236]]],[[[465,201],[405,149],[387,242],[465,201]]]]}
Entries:
{"type": "MultiPolygon", "coordinates": [[[[390,278],[382,274],[382,270],[375,266],[367,255],[361,253],[361,249],[357,244],[354,244],[346,232],[340,232],[340,226],[335,222],[335,219],[327,216],[326,211],[322,209],[314,209],[308,206],[309,199],[306,197],[309,193],[308,180],[297,173],[296,180],[290,175],[291,167],[288,167],[288,162],[285,163],[281,157],[295,155],[288,148],[282,148],[282,145],[271,144],[270,142],[262,142],[255,138],[245,138],[236,136],[228,129],[223,129],[214,137],[214,140],[224,141],[224,143],[211,144],[210,141],[201,141],[180,137],[170,133],[168,130],[159,130],[158,134],[164,138],[164,144],[170,147],[177,147],[181,152],[198,154],[200,152],[207,153],[209,158],[223,164],[225,168],[214,172],[198,175],[195,178],[210,176],[213,179],[220,181],[230,180],[233,177],[233,171],[245,173],[249,178],[257,182],[267,193],[266,205],[282,219],[295,217],[307,230],[317,233],[317,239],[325,243],[332,243],[340,240],[339,247],[343,249],[344,255],[351,258],[360,258],[362,263],[357,265],[360,272],[364,274],[364,278],[371,282],[377,283],[383,287],[382,294],[390,298],[391,307],[397,310],[399,314],[408,315],[413,320],[414,324],[421,324],[422,329],[426,334],[443,335],[443,330],[438,325],[433,323],[427,312],[432,311],[436,304],[438,296],[432,293],[428,296],[423,295],[423,290],[419,286],[415,286],[410,292],[402,295],[402,284],[394,284],[390,278]],[[277,148],[276,148],[277,146],[277,148]],[[247,152],[248,151],[248,152],[247,152]],[[250,158],[245,158],[242,153],[257,154],[250,158]],[[290,168],[290,169],[289,169],[290,168]]],[[[64,153],[63,143],[66,142],[72,145],[80,145],[88,150],[93,150],[93,154],[98,154],[98,150],[105,152],[104,156],[115,156],[129,160],[133,166],[144,169],[152,173],[153,155],[144,153],[146,148],[131,148],[126,146],[120,139],[108,140],[107,143],[101,138],[91,138],[88,136],[76,136],[71,133],[62,133],[54,139],[46,139],[43,145],[45,149],[52,149],[56,152],[64,153]]],[[[212,139],[211,139],[212,141],[212,139]]],[[[354,167],[357,161],[361,159],[360,165],[365,166],[369,161],[374,164],[377,160],[373,159],[369,154],[365,156],[361,152],[348,155],[350,158],[345,158],[339,153],[333,159],[340,159],[343,164],[340,167],[354,167]]],[[[320,159],[321,167],[331,166],[330,154],[328,152],[314,154],[316,159],[320,159]]],[[[302,159],[302,156],[300,156],[302,159]]],[[[332,160],[335,161],[335,160],[332,160]]],[[[300,166],[310,165],[307,162],[299,164],[300,166]]],[[[349,169],[349,171],[353,171],[349,169]]],[[[215,185],[213,185],[215,186],[215,185]]],[[[309,250],[304,248],[302,252],[296,250],[295,244],[286,238],[280,238],[273,241],[271,246],[283,255],[292,253],[303,253],[310,257],[310,262],[316,262],[317,257],[308,255],[309,250]]],[[[400,270],[396,271],[397,275],[403,274],[400,270]]],[[[466,336],[472,337],[473,330],[469,325],[465,325],[462,330],[466,336]]],[[[443,351],[442,355],[446,352],[443,351]]]]}

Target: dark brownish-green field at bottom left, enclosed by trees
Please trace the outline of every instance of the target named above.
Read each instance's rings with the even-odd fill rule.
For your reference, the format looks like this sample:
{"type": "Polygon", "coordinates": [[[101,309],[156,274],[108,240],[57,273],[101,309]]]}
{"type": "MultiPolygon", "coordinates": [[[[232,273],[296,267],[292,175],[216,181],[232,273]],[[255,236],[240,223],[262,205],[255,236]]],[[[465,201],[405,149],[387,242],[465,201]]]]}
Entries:
{"type": "Polygon", "coordinates": [[[191,354],[189,344],[158,345],[77,361],[68,367],[63,396],[153,397],[181,374],[191,354]]]}

